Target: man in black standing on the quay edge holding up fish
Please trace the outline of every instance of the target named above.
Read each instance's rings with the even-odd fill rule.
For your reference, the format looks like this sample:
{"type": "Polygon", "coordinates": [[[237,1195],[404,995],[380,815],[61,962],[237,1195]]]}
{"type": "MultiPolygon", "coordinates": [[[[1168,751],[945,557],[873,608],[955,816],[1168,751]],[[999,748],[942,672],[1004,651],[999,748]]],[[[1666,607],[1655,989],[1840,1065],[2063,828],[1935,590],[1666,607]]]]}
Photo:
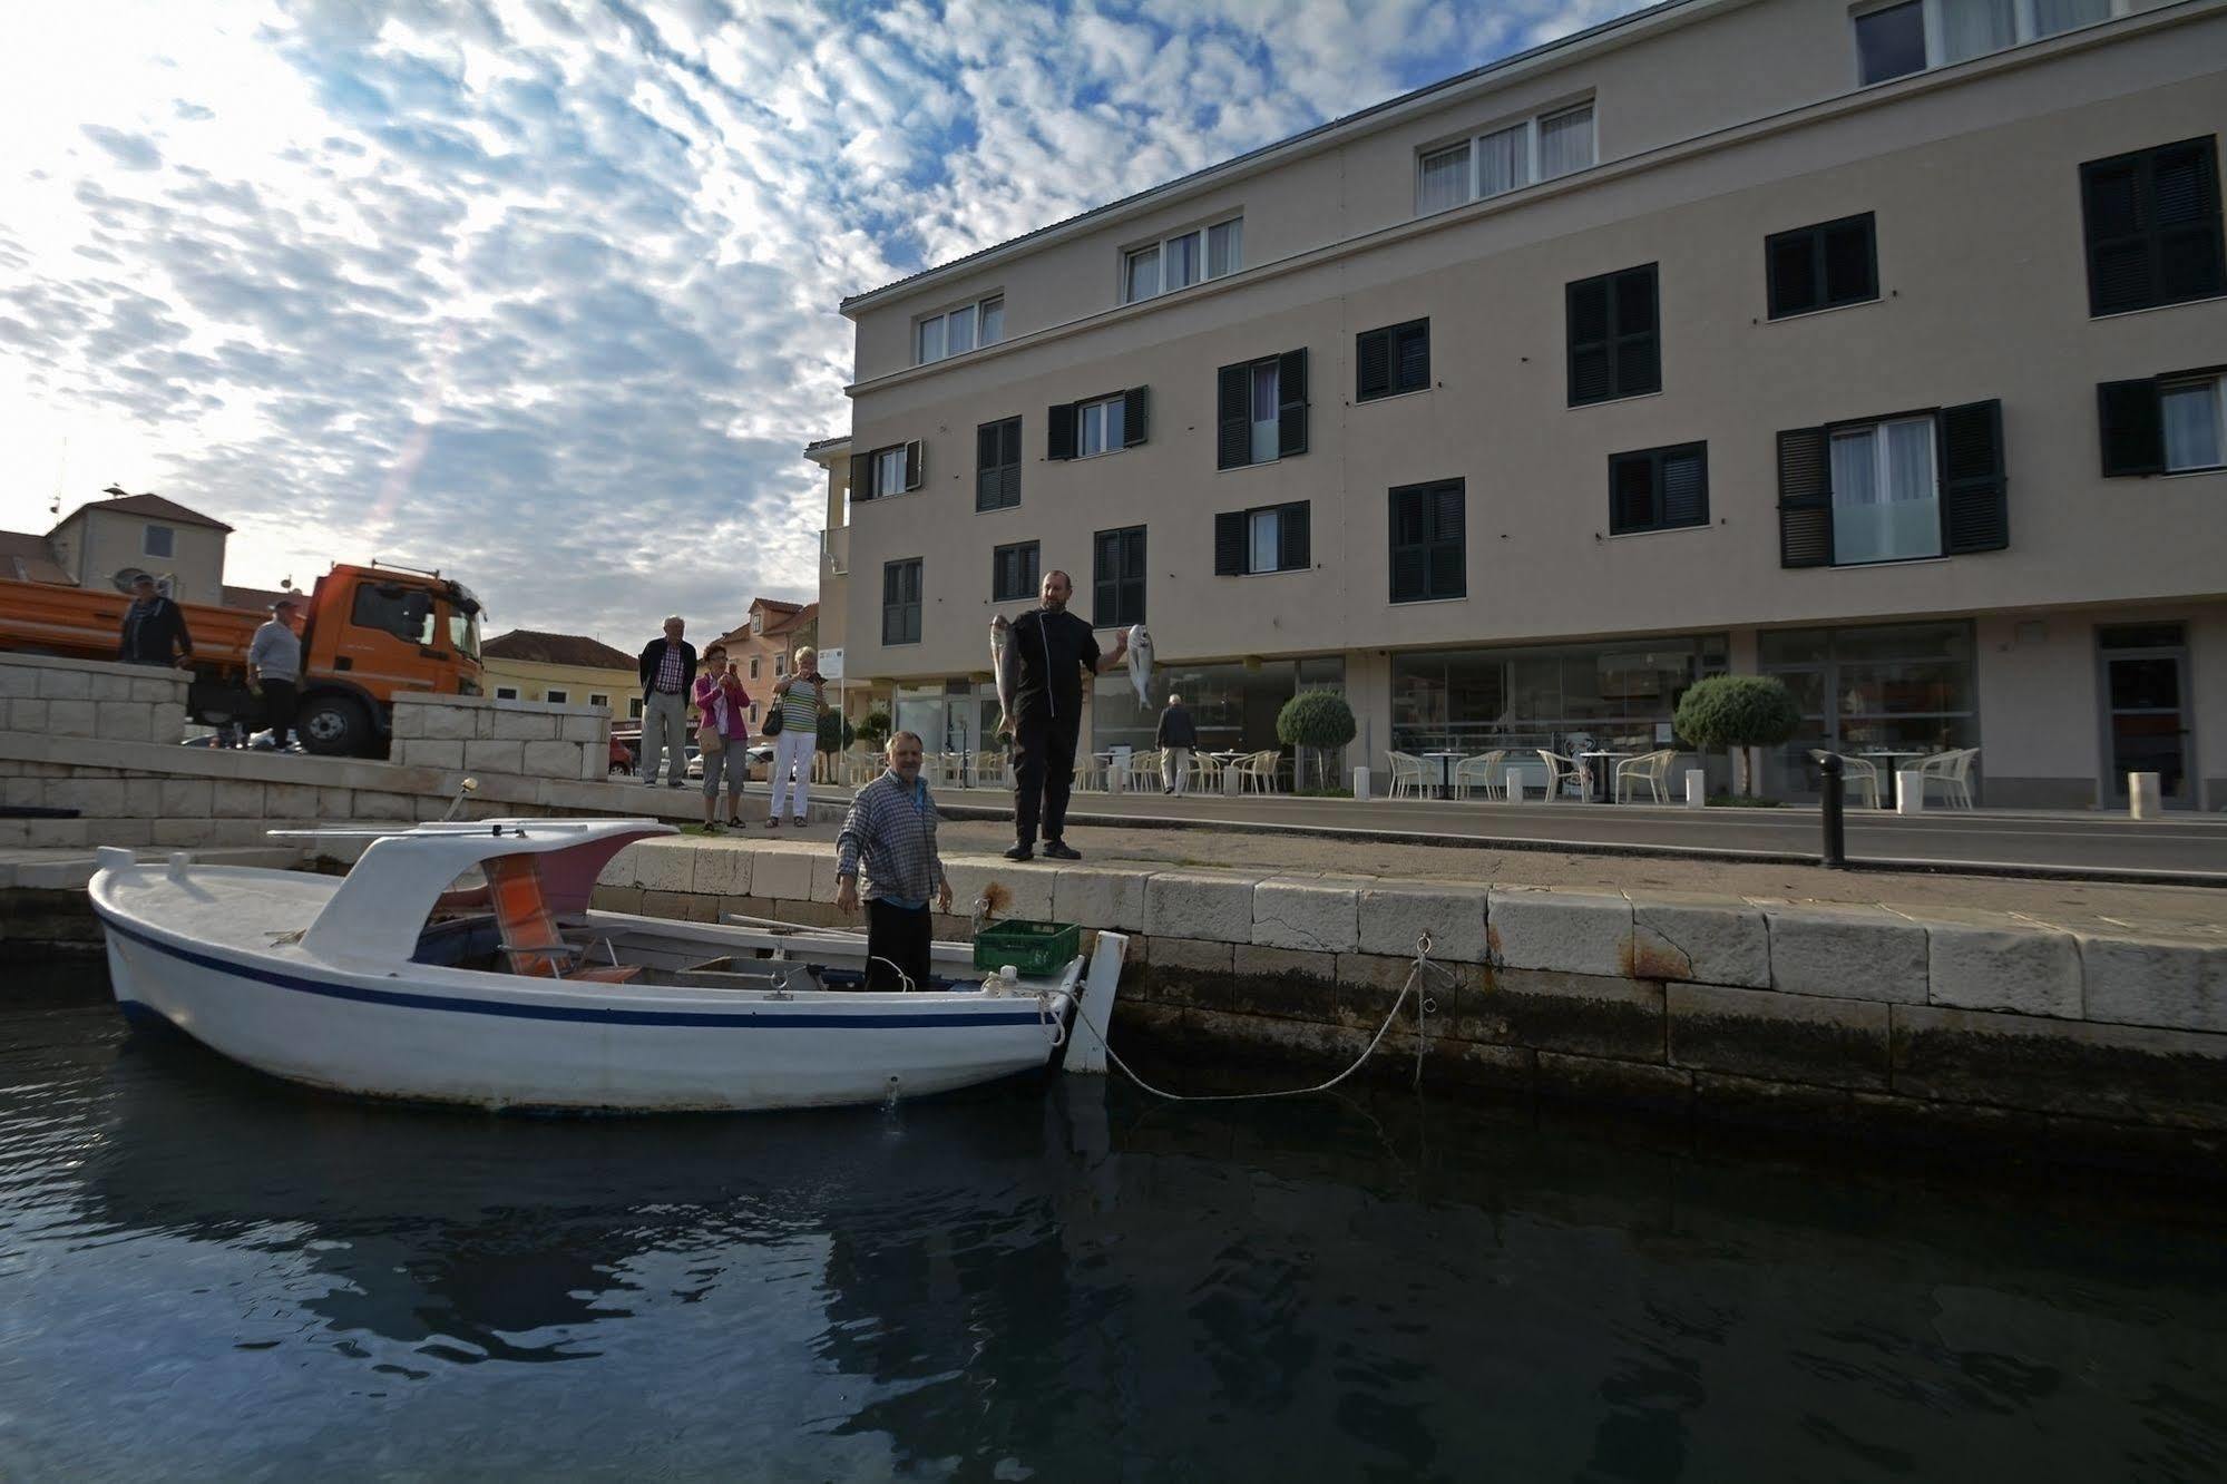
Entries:
{"type": "Polygon", "coordinates": [[[1044,573],[1044,606],[1013,619],[1007,655],[1013,675],[1013,833],[1007,860],[1036,856],[1038,809],[1044,853],[1082,860],[1060,836],[1067,831],[1067,793],[1076,782],[1076,742],[1082,735],[1082,671],[1105,673],[1129,655],[1129,633],[1114,635],[1114,653],[1098,651],[1091,626],[1067,611],[1076,584],[1067,573],[1044,573]]]}

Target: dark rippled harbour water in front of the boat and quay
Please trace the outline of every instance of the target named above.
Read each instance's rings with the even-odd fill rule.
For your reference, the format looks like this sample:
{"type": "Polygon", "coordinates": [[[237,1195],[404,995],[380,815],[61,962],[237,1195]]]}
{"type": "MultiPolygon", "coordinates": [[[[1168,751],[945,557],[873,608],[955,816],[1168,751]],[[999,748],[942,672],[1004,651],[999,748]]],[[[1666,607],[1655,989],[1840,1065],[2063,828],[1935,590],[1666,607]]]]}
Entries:
{"type": "Polygon", "coordinates": [[[2223,1234],[1428,1087],[370,1105],[11,969],[0,1477],[2218,1480],[2223,1234]]]}

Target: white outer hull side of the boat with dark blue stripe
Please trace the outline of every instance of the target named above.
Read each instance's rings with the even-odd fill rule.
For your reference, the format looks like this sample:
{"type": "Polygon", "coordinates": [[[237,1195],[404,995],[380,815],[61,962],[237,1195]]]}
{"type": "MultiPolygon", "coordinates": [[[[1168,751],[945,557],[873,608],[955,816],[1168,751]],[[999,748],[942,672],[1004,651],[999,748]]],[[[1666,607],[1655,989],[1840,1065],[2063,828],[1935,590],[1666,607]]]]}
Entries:
{"type": "MultiPolygon", "coordinates": [[[[1058,1056],[1073,994],[793,998],[439,967],[352,974],[102,911],[129,1016],[312,1087],[474,1107],[724,1112],[926,1096],[1058,1056]]],[[[1073,976],[1069,976],[1069,987],[1073,976]]]]}

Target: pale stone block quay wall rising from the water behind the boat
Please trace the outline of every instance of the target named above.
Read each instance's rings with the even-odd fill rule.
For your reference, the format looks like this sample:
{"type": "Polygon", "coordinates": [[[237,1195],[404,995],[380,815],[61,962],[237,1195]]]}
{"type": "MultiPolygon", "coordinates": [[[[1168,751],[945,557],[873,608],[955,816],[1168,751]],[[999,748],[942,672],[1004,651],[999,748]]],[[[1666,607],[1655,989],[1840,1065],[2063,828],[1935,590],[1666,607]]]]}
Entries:
{"type": "MultiPolygon", "coordinates": [[[[1430,934],[1425,1085],[1635,1103],[1802,1141],[1986,1141],[2067,1159],[2227,1148],[2227,940],[2013,916],[1497,882],[1249,876],[949,858],[964,911],[1131,934],[1118,1045],[1334,1070],[1430,934]]],[[[826,844],[644,840],[597,905],[857,925],[826,844]]],[[[969,920],[938,920],[967,938],[969,920]]],[[[1414,1067],[1414,1021],[1379,1049],[1414,1067]]],[[[1679,1123],[1684,1127],[1684,1123],[1679,1123]]]]}

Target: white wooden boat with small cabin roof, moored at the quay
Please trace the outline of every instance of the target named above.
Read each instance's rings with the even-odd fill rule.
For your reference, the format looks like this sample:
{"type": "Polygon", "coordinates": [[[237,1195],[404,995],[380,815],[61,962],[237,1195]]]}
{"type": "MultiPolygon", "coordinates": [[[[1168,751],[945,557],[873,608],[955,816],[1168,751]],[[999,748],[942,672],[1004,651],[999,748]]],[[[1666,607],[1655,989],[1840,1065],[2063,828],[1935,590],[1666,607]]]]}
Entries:
{"type": "Polygon", "coordinates": [[[940,943],[935,983],[875,994],[862,936],[590,911],[604,865],[670,824],[323,833],[370,838],[347,876],[102,849],[125,1012],[298,1083],[481,1107],[824,1107],[1105,1070],[1089,1025],[1111,1016],[1118,934],[1011,989],[940,943]]]}

